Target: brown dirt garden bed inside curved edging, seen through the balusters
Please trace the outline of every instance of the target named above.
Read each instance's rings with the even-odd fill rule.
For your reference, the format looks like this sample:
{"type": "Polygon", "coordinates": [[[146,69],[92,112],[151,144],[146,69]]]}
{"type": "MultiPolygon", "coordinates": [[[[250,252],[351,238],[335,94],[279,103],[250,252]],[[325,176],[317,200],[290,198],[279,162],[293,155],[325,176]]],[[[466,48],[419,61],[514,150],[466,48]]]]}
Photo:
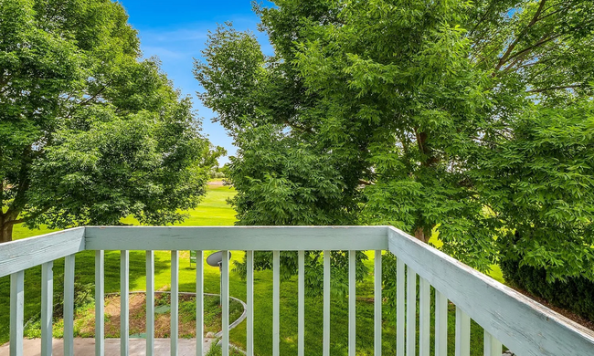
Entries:
{"type": "MultiPolygon", "coordinates": [[[[170,295],[155,292],[154,298],[154,337],[169,338],[171,333],[170,295]]],[[[105,337],[120,337],[120,296],[113,295],[105,298],[105,337]]],[[[132,293],[129,298],[129,328],[130,335],[140,335],[146,332],[146,295],[132,293]]],[[[243,312],[243,306],[233,299],[229,300],[229,320],[238,319],[243,312]]],[[[179,296],[179,337],[182,339],[196,338],[196,297],[193,295],[179,296]]],[[[205,296],[204,299],[204,332],[218,332],[221,329],[221,309],[218,297],[205,296]]],[[[75,319],[78,336],[93,337],[95,333],[95,309],[80,310],[75,319]]],[[[203,335],[203,337],[205,336],[203,335]]]]}

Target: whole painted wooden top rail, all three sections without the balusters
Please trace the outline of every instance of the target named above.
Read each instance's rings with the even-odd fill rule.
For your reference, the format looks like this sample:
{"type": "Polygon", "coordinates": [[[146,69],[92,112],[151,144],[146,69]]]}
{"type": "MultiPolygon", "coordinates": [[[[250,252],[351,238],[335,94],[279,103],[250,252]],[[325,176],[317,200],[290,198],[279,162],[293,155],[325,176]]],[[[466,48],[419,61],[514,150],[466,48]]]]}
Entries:
{"type": "MultiPolygon", "coordinates": [[[[119,245],[126,244],[137,249],[139,235],[143,235],[144,248],[154,246],[154,248],[164,250],[172,248],[172,245],[168,244],[169,241],[173,241],[175,246],[186,244],[220,248],[228,245],[232,246],[229,248],[241,248],[236,245],[244,244],[252,246],[245,249],[263,250],[270,250],[270,248],[377,250],[389,245],[391,252],[397,254],[409,267],[418,270],[419,275],[439,289],[445,298],[450,298],[452,302],[468,312],[472,319],[476,319],[483,325],[485,330],[493,335],[493,338],[503,341],[518,354],[523,356],[558,354],[571,356],[584,354],[584,352],[593,350],[594,347],[594,335],[591,331],[525,298],[512,289],[505,288],[493,279],[483,276],[472,268],[462,265],[453,258],[445,256],[393,227],[322,227],[313,228],[314,234],[311,234],[312,231],[309,231],[311,227],[308,226],[298,228],[186,227],[182,228],[186,230],[177,229],[171,227],[89,227],[55,233],[51,235],[54,236],[52,238],[39,236],[6,243],[0,248],[0,277],[49,262],[55,258],[69,256],[85,249],[87,244],[90,244],[87,247],[95,250],[104,249],[101,247],[102,244],[106,244],[108,249],[127,249],[119,247],[119,245]],[[281,230],[275,231],[275,229],[281,230]],[[173,236],[168,236],[168,234],[173,236]],[[85,235],[87,236],[85,237],[85,235]],[[145,236],[146,239],[144,239],[145,236]],[[246,238],[246,236],[250,238],[246,238]],[[277,238],[278,236],[280,237],[277,238]],[[254,237],[254,241],[251,241],[251,237],[254,237]],[[326,237],[328,238],[326,239],[326,237]],[[218,239],[221,241],[217,241],[218,239]],[[318,240],[324,242],[320,243],[318,240]],[[289,247],[282,247],[284,245],[289,247]],[[477,300],[481,300],[481,302],[476,302],[477,300]]],[[[68,330],[68,325],[66,329],[68,330]]]]}

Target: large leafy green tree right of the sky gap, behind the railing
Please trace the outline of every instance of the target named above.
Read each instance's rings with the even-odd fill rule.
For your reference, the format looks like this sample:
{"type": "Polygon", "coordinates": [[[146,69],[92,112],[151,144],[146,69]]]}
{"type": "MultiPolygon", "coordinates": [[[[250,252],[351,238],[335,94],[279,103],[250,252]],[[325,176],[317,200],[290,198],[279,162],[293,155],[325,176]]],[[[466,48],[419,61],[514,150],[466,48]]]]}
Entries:
{"type": "Polygon", "coordinates": [[[239,224],[438,232],[482,270],[513,234],[523,263],[594,280],[591,1],[275,3],[274,56],[221,27],[196,63],[239,144],[239,224]]]}

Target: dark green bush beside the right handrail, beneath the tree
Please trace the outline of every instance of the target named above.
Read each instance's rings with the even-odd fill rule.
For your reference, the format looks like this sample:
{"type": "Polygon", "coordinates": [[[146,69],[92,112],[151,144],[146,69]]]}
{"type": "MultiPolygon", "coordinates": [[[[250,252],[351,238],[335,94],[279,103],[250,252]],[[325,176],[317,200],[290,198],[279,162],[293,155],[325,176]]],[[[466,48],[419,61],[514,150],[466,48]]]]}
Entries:
{"type": "MultiPolygon", "coordinates": [[[[503,256],[503,254],[502,254],[503,256]]],[[[519,257],[506,255],[500,260],[505,280],[551,304],[569,309],[594,321],[594,282],[584,277],[567,277],[565,282],[546,282],[546,269],[520,266],[519,257]]]]}

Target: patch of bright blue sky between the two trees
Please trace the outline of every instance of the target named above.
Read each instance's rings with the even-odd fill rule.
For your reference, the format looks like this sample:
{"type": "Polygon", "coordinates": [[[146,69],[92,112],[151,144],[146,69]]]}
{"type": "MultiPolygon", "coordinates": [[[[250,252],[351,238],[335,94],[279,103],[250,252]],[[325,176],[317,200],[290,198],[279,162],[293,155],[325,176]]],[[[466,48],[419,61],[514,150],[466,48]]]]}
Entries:
{"type": "MultiPolygon", "coordinates": [[[[229,155],[235,153],[232,140],[225,129],[216,122],[211,110],[205,108],[196,98],[201,91],[192,68],[194,58],[202,58],[207,31],[217,24],[232,21],[238,30],[251,30],[260,39],[264,54],[271,55],[266,35],[258,32],[258,16],[251,11],[250,0],[202,1],[202,0],[121,0],[130,16],[129,23],[138,30],[143,56],[158,57],[163,70],[173,80],[175,88],[189,94],[194,100],[198,116],[203,118],[203,132],[210,141],[224,147],[229,155]]],[[[228,162],[225,157],[219,163],[228,162]]]]}

